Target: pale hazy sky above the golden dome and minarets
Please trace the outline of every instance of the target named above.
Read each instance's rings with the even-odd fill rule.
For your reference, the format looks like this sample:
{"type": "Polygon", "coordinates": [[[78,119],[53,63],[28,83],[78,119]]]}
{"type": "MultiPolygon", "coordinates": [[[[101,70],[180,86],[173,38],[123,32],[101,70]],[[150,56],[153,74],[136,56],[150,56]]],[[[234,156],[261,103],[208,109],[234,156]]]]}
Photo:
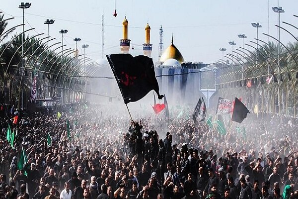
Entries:
{"type": "MultiPolygon", "coordinates": [[[[22,10],[18,8],[21,1],[1,0],[0,10],[4,18],[14,16],[8,26],[22,22],[22,10]]],[[[26,1],[25,1],[26,2],[26,1]]],[[[120,53],[119,39],[122,38],[122,21],[127,16],[129,21],[128,37],[131,39],[132,55],[143,54],[142,44],[145,41],[145,25],[151,27],[153,61],[157,61],[159,27],[163,27],[164,50],[170,45],[171,35],[174,44],[182,53],[185,61],[202,61],[213,63],[222,58],[219,48],[226,48],[231,53],[228,41],[235,41],[237,48],[242,47],[242,39],[237,34],[247,35],[245,42],[256,38],[256,28],[252,22],[260,22],[259,38],[268,41],[262,33],[268,33],[268,0],[116,0],[117,17],[113,16],[114,0],[30,0],[32,5],[25,9],[25,29],[35,27],[30,35],[44,32],[47,25],[44,21],[54,19],[50,25],[50,36],[62,40],[59,30],[68,29],[64,44],[74,48],[74,37],[81,38],[78,43],[80,53],[82,44],[89,44],[86,56],[93,60],[101,58],[101,15],[104,13],[104,53],[120,53]]],[[[282,6],[281,21],[298,26],[298,0],[269,0],[269,30],[277,37],[277,14],[272,6],[282,6]]],[[[281,26],[298,35],[298,30],[281,26]]],[[[21,27],[17,32],[21,31],[21,27]]],[[[288,33],[281,30],[281,41],[294,41],[288,33]]],[[[57,42],[57,41],[55,41],[57,42]]],[[[54,42],[52,42],[53,44],[54,42]]],[[[251,43],[250,43],[251,44],[251,43]]],[[[254,44],[253,44],[254,45],[254,44]]]]}

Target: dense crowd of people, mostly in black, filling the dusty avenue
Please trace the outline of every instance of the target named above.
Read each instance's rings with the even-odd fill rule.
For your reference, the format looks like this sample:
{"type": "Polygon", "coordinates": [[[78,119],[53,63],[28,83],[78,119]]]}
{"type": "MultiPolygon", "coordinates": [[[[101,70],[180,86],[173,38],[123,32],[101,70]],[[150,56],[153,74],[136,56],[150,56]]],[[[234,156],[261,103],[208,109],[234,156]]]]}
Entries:
{"type": "Polygon", "coordinates": [[[0,199],[298,199],[296,119],[250,114],[222,134],[100,105],[57,111],[0,114],[0,199]]]}

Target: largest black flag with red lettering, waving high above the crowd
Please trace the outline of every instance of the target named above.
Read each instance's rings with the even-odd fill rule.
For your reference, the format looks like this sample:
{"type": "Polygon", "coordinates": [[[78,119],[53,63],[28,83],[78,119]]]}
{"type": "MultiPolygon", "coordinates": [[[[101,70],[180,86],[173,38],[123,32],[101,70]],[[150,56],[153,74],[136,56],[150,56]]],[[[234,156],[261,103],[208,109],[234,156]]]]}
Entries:
{"type": "Polygon", "coordinates": [[[133,57],[130,54],[106,56],[125,104],[142,99],[151,90],[156,92],[159,100],[163,98],[159,95],[151,58],[144,55],[133,57]]]}

